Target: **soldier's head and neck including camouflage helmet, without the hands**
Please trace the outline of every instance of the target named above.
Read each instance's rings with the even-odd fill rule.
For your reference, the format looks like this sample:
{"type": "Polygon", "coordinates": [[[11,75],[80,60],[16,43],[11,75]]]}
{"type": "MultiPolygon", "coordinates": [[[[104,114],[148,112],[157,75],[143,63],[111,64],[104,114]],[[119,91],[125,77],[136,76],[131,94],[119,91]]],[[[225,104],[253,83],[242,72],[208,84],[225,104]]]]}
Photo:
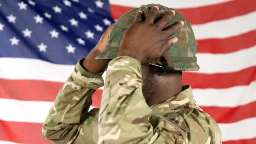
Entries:
{"type": "MultiPolygon", "coordinates": [[[[118,55],[121,40],[126,30],[135,20],[136,13],[141,10],[144,14],[142,18],[145,19],[154,6],[159,7],[154,23],[158,22],[170,10],[174,10],[159,4],[148,4],[128,11],[115,23],[111,33],[108,35],[106,49],[96,59],[114,59],[118,55]]],[[[163,30],[168,29],[179,21],[184,21],[184,26],[168,38],[177,37],[179,39],[178,42],[174,43],[158,61],[151,62],[150,65],[141,65],[142,92],[148,105],[158,103],[180,92],[182,89],[182,71],[199,70],[195,57],[197,42],[195,41],[193,30],[190,23],[179,11],[175,10],[175,13],[171,22],[168,22],[163,30]]],[[[144,33],[141,33],[141,36],[147,37],[144,33]]]]}

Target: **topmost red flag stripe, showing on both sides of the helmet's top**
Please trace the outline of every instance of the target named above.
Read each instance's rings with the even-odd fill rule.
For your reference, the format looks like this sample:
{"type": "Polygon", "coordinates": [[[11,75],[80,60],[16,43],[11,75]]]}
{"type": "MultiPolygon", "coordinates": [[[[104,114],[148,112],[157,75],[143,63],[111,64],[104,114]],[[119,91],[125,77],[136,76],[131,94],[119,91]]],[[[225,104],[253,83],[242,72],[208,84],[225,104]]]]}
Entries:
{"type": "MultiPolygon", "coordinates": [[[[205,7],[178,9],[191,24],[207,23],[214,20],[224,20],[240,16],[256,10],[256,0],[232,0],[226,3],[214,4],[205,7]]],[[[125,7],[111,4],[111,14],[119,19],[124,13],[134,7],[125,7]]]]}

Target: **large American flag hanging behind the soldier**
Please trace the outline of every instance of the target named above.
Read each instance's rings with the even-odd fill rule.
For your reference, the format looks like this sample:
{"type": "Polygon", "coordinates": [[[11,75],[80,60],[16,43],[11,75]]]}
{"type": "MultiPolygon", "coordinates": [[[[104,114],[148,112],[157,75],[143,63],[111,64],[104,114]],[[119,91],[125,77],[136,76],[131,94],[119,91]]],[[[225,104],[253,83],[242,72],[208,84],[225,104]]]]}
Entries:
{"type": "Polygon", "coordinates": [[[0,0],[0,144],[50,144],[42,124],[76,62],[122,14],[149,3],[192,24],[201,69],[184,72],[183,84],[223,144],[256,144],[256,0],[0,0]]]}

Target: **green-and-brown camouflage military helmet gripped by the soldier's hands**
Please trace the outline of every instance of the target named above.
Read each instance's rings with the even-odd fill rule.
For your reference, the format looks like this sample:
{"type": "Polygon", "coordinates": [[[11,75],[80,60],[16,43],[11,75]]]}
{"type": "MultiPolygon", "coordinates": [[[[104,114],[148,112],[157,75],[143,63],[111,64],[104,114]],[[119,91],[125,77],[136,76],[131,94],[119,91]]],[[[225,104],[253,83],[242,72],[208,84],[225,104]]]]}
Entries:
{"type": "MultiPolygon", "coordinates": [[[[114,59],[118,54],[118,49],[121,43],[121,39],[125,34],[125,31],[133,23],[135,15],[139,10],[142,10],[144,13],[143,19],[145,19],[149,11],[154,7],[159,7],[159,13],[156,16],[156,21],[160,20],[170,10],[175,10],[171,8],[164,7],[160,4],[148,4],[141,5],[139,8],[132,9],[122,15],[118,21],[113,26],[111,33],[108,35],[108,45],[105,50],[100,53],[96,59],[114,59]]],[[[184,26],[177,31],[172,37],[177,37],[179,40],[171,48],[164,53],[160,60],[151,62],[150,64],[162,67],[167,70],[176,70],[176,71],[198,71],[199,65],[197,65],[197,42],[195,41],[194,32],[191,28],[190,23],[187,19],[177,10],[176,14],[167,26],[177,23],[178,21],[183,20],[184,26]]],[[[144,36],[141,33],[141,36],[144,36]]],[[[170,39],[169,38],[169,39],[170,39]]]]}

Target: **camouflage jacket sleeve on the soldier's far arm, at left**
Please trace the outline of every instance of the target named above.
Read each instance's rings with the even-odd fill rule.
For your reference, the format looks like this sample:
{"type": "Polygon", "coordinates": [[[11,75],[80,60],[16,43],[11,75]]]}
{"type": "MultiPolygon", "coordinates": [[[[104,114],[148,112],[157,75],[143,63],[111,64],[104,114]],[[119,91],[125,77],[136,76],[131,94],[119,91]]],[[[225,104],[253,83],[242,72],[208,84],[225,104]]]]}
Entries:
{"type": "Polygon", "coordinates": [[[102,73],[93,74],[82,68],[80,59],[59,91],[43,124],[43,137],[56,144],[70,144],[80,122],[92,104],[92,94],[103,86],[102,73]]]}

